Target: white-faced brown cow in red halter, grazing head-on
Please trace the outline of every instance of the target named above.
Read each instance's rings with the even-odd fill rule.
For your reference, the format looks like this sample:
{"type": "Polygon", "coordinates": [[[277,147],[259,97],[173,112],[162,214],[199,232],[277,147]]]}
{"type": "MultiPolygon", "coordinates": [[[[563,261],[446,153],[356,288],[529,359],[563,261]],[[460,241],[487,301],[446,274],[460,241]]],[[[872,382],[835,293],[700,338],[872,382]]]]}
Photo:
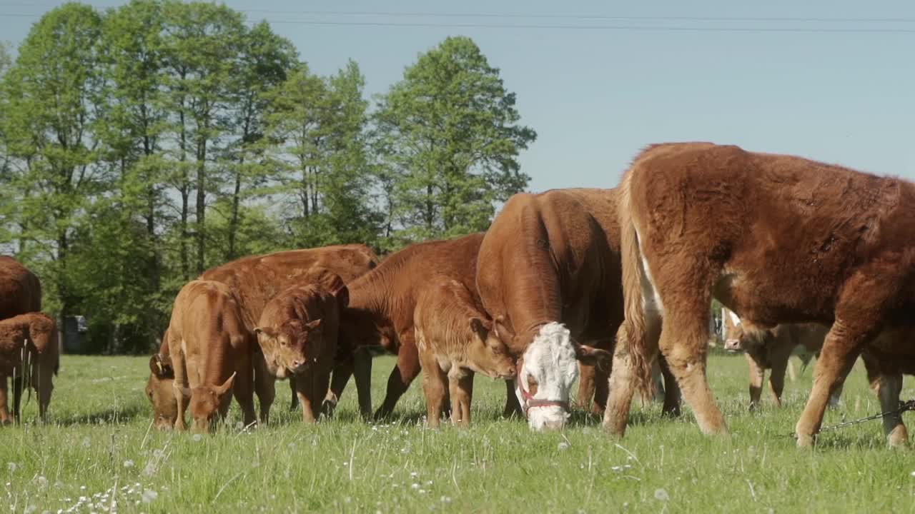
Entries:
{"type": "MultiPolygon", "coordinates": [[[[519,359],[516,394],[532,428],[565,424],[576,360],[604,361],[585,368],[578,390],[579,404],[587,406],[593,396],[593,410],[601,412],[607,349],[623,317],[620,277],[612,189],[520,193],[487,230],[477,262],[479,294],[497,336],[519,359]]],[[[675,412],[675,390],[669,392],[665,411],[675,412]]]]}

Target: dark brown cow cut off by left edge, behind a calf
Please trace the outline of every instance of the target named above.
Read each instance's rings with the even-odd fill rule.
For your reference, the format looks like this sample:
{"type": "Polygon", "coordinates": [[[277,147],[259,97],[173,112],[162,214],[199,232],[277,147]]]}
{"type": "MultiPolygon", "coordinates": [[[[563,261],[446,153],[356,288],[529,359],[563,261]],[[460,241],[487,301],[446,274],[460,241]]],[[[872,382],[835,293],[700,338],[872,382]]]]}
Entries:
{"type": "MultiPolygon", "coordinates": [[[[0,319],[41,310],[41,283],[34,273],[16,262],[12,257],[0,255],[0,319]]],[[[9,423],[13,418],[7,407],[8,376],[0,370],[0,423],[9,423]]],[[[13,380],[13,390],[22,391],[23,380],[13,380]]],[[[19,401],[13,395],[14,403],[19,401]]]]}

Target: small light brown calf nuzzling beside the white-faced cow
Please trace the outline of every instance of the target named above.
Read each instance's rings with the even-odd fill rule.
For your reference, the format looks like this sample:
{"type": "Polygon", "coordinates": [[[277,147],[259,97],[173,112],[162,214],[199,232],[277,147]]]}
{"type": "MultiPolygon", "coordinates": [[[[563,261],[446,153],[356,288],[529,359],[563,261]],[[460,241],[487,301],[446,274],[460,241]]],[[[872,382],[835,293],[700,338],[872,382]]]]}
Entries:
{"type": "Polygon", "coordinates": [[[425,284],[414,309],[416,346],[423,367],[426,423],[437,427],[445,399],[451,398],[452,423],[470,423],[474,373],[511,380],[514,359],[492,334],[492,322],[479,300],[457,280],[425,284]]]}

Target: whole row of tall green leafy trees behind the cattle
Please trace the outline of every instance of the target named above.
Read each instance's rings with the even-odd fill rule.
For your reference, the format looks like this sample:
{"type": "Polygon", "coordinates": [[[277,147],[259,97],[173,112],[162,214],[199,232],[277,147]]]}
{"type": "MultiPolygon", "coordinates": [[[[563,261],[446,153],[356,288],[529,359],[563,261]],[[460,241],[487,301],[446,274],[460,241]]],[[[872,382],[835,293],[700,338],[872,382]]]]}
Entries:
{"type": "Polygon", "coordinates": [[[211,266],[485,230],[526,187],[536,134],[468,37],[364,90],[358,63],[318,75],[224,5],[61,5],[0,45],[0,249],[92,348],[145,351],[211,266]]]}

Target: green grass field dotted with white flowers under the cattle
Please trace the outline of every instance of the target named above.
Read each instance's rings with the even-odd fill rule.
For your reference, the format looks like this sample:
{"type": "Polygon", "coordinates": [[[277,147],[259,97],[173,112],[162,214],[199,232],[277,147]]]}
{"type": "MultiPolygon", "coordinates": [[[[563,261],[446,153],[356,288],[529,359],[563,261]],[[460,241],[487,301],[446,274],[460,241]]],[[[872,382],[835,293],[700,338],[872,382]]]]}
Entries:
{"type": "MultiPolygon", "coordinates": [[[[53,423],[33,424],[33,398],[27,423],[0,428],[10,512],[915,511],[915,458],[888,450],[878,421],[823,434],[813,452],[785,435],[811,369],[786,385],[782,409],[764,397],[751,414],[744,359],[713,356],[712,389],[730,436],[702,436],[688,409],[680,420],[662,420],[658,406],[637,403],[617,441],[583,413],[562,434],[503,421],[504,386],[489,379],[477,381],[468,430],[425,429],[417,381],[393,423],[358,421],[350,384],[335,419],[304,426],[279,383],[266,428],[231,428],[233,406],[233,421],[218,434],[161,433],[149,429],[147,362],[63,358],[53,423]]],[[[392,365],[374,361],[376,404],[392,365]]],[[[903,398],[913,392],[907,387],[903,398]]],[[[878,410],[858,362],[825,423],[878,410]]]]}

